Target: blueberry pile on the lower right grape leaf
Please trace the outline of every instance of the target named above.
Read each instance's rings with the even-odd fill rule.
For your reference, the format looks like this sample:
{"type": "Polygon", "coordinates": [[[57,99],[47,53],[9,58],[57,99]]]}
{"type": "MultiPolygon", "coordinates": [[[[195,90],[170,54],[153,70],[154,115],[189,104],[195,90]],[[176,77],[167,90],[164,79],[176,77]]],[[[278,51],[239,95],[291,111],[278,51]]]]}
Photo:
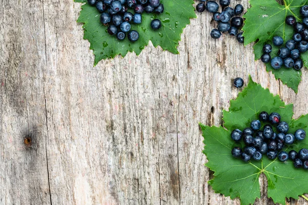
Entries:
{"type": "Polygon", "coordinates": [[[231,138],[240,142],[244,141],[245,147],[235,147],[232,150],[234,157],[241,157],[243,161],[251,159],[261,160],[263,154],[268,159],[278,157],[280,161],[291,159],[296,168],[303,167],[308,169],[308,149],[301,149],[298,153],[294,150],[290,152],[281,151],[285,145],[292,145],[295,140],[303,140],[306,133],[303,129],[298,129],[294,134],[288,133],[289,126],[287,122],[281,121],[278,113],[273,112],[268,115],[263,111],[259,115],[259,119],[251,122],[251,127],[245,128],[243,131],[235,129],[231,133],[231,138]],[[272,125],[266,124],[261,129],[261,121],[270,122],[276,127],[278,133],[274,132],[272,125]]]}

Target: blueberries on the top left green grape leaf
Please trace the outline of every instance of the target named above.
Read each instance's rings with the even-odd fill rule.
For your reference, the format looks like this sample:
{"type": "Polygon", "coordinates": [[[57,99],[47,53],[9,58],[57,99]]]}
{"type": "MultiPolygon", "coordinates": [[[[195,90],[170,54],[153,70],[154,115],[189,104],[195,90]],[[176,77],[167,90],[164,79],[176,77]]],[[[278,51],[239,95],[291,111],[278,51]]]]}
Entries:
{"type": "MultiPolygon", "coordinates": [[[[127,33],[131,42],[136,42],[139,38],[138,31],[130,30],[131,23],[141,24],[144,11],[157,14],[164,11],[164,5],[160,3],[160,0],[88,0],[88,3],[96,6],[98,11],[102,13],[100,20],[103,25],[108,26],[107,31],[110,35],[124,40],[127,33]]],[[[162,23],[159,19],[153,19],[150,26],[156,30],[161,28],[162,23]]]]}

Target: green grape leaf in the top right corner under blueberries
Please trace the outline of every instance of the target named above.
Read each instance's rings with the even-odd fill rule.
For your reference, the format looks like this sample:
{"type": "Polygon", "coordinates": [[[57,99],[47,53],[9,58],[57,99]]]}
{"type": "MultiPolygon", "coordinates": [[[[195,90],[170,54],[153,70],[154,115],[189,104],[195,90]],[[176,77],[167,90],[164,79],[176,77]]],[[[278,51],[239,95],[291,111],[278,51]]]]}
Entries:
{"type": "MultiPolygon", "coordinates": [[[[248,45],[258,40],[254,45],[255,59],[259,59],[262,53],[262,47],[265,43],[272,44],[272,38],[275,35],[281,36],[286,40],[292,39],[293,27],[285,24],[285,17],[294,15],[297,21],[301,21],[299,8],[308,3],[307,0],[284,0],[284,5],[278,4],[275,0],[251,0],[251,8],[244,15],[245,25],[243,27],[243,35],[245,37],[244,44],[248,45]]],[[[273,44],[272,44],[273,46],[273,44]]],[[[272,57],[277,56],[279,48],[273,47],[272,57]]],[[[301,56],[305,67],[308,66],[308,54],[301,56]]],[[[267,72],[272,71],[276,79],[282,81],[288,87],[292,88],[296,93],[298,85],[301,81],[301,71],[282,67],[279,70],[272,68],[271,64],[266,64],[267,72]]]]}

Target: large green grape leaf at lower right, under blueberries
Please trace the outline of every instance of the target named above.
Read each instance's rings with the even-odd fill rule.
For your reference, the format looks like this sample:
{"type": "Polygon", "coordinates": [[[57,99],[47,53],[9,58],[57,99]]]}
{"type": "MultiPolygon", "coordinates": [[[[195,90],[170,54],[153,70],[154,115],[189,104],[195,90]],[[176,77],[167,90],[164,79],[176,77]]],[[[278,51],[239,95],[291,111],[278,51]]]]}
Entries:
{"type": "MultiPolygon", "coordinates": [[[[285,204],[285,197],[298,199],[308,193],[307,171],[296,169],[291,160],[280,162],[263,156],[261,161],[244,162],[231,155],[231,150],[239,144],[230,138],[232,130],[249,127],[261,111],[278,112],[282,120],[290,125],[290,133],[299,128],[308,133],[308,115],[292,119],[293,105],[285,105],[279,96],[263,89],[251,78],[248,86],[239,93],[236,100],[230,100],[229,111],[223,110],[223,127],[208,127],[200,124],[204,137],[204,151],[208,162],[206,167],[214,171],[214,178],[208,183],[216,193],[239,197],[241,204],[253,204],[260,198],[259,176],[264,173],[268,180],[268,197],[275,203],[285,204]]],[[[241,143],[240,147],[244,147],[241,143]]],[[[308,138],[297,141],[285,150],[299,151],[308,148],[308,138]]]]}

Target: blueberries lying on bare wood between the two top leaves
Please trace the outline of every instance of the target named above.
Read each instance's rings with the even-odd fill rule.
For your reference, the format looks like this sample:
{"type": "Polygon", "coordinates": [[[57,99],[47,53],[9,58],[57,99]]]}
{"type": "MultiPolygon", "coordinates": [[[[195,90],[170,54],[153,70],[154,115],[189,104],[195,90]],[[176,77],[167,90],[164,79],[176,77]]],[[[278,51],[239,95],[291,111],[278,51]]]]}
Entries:
{"type": "Polygon", "coordinates": [[[219,5],[214,1],[208,1],[206,3],[205,0],[199,0],[199,3],[196,6],[196,10],[198,12],[208,11],[213,13],[213,19],[218,22],[218,27],[216,29],[211,30],[210,36],[212,38],[220,38],[221,33],[228,32],[232,36],[236,36],[238,42],[244,43],[243,32],[239,32],[242,28],[244,20],[240,16],[243,13],[244,8],[242,5],[238,4],[234,8],[229,7],[230,0],[220,0],[219,4],[222,7],[222,12],[218,12],[219,5]]]}

